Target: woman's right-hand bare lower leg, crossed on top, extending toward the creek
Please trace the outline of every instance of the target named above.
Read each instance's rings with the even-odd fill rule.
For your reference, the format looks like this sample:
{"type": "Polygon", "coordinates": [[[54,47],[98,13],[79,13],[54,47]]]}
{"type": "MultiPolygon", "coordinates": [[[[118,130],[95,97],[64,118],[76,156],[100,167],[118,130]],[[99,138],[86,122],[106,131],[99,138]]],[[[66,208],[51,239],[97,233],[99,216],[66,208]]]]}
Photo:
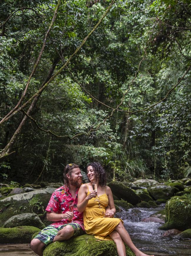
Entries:
{"type": "MultiPolygon", "coordinates": [[[[118,231],[118,233],[120,234],[120,237],[123,239],[125,244],[128,245],[128,247],[135,253],[136,256],[149,256],[149,255],[141,252],[140,250],[138,250],[137,247],[135,247],[135,245],[133,244],[133,242],[130,239],[130,236],[129,236],[128,232],[124,228],[124,226],[123,226],[121,221],[115,227],[115,230],[118,231]]],[[[152,255],[152,256],[154,256],[154,255],[152,255]]]]}

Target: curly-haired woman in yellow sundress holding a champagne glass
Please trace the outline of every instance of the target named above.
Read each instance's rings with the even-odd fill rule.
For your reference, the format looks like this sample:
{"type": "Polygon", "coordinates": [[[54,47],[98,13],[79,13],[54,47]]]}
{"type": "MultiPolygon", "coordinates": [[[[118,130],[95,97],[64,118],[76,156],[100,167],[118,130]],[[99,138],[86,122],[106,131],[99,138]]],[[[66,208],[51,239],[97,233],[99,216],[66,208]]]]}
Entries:
{"type": "Polygon", "coordinates": [[[103,167],[97,162],[88,164],[87,176],[90,182],[81,185],[78,191],[78,211],[83,212],[86,233],[95,235],[98,239],[113,240],[119,256],[126,256],[124,242],[136,256],[148,256],[135,247],[123,226],[123,221],[113,218],[116,210],[110,187],[106,186],[103,167]],[[92,184],[97,185],[97,191],[93,190],[92,184]],[[108,205],[110,212],[105,213],[108,205]]]}

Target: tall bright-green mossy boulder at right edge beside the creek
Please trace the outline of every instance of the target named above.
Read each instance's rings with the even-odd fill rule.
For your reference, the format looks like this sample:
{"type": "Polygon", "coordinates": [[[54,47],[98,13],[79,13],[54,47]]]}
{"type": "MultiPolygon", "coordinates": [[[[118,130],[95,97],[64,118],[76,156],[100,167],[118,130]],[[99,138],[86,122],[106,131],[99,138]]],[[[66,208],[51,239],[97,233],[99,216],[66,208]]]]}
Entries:
{"type": "Polygon", "coordinates": [[[174,196],[165,206],[165,224],[160,229],[178,229],[184,231],[191,228],[191,196],[174,196]]]}

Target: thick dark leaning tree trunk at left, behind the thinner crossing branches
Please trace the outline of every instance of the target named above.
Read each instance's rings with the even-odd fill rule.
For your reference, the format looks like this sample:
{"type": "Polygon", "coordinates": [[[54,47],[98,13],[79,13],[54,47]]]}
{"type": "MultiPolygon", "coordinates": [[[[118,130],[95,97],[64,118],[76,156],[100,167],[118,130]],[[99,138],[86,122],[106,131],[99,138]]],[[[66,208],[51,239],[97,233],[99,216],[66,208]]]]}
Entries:
{"type": "MultiPolygon", "coordinates": [[[[47,75],[45,81],[43,82],[43,84],[41,85],[41,87],[43,87],[43,85],[46,84],[46,82],[51,78],[51,76],[52,76],[52,74],[54,72],[54,69],[56,68],[56,65],[58,64],[59,61],[60,61],[59,57],[54,59],[53,64],[52,64],[52,66],[51,66],[51,68],[50,68],[50,70],[48,72],[48,75],[47,75]]],[[[32,101],[32,103],[31,103],[31,105],[30,105],[30,107],[29,107],[29,109],[27,111],[28,115],[31,115],[31,113],[33,112],[33,110],[34,110],[34,108],[36,106],[36,103],[37,103],[39,97],[41,96],[41,93],[37,97],[35,97],[34,100],[32,101]]],[[[26,123],[27,119],[28,118],[25,115],[24,118],[22,119],[19,127],[16,129],[15,133],[13,134],[12,138],[10,139],[9,143],[1,151],[0,159],[2,159],[4,157],[8,156],[9,154],[12,154],[12,153],[15,152],[15,151],[11,152],[11,150],[13,149],[13,146],[14,146],[14,144],[15,144],[15,142],[16,142],[16,140],[17,140],[17,138],[18,138],[18,136],[19,136],[19,134],[21,132],[21,129],[22,129],[23,125],[26,123]]]]}

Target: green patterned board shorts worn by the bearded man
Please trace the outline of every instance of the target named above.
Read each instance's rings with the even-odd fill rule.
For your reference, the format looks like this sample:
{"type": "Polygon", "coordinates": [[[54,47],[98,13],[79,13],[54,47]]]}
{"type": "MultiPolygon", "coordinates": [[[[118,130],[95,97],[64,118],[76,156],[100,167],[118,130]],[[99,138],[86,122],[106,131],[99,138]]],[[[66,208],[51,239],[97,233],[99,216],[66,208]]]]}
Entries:
{"type": "Polygon", "coordinates": [[[71,225],[73,227],[73,229],[74,229],[73,237],[85,234],[85,231],[83,231],[83,229],[81,228],[81,226],[78,223],[67,223],[67,224],[61,225],[57,228],[54,228],[53,226],[49,225],[46,228],[44,228],[43,230],[41,230],[38,233],[38,235],[36,235],[36,237],[34,237],[34,238],[37,238],[44,244],[48,245],[53,242],[54,237],[56,237],[58,231],[63,229],[63,227],[65,227],[66,225],[71,225]]]}

